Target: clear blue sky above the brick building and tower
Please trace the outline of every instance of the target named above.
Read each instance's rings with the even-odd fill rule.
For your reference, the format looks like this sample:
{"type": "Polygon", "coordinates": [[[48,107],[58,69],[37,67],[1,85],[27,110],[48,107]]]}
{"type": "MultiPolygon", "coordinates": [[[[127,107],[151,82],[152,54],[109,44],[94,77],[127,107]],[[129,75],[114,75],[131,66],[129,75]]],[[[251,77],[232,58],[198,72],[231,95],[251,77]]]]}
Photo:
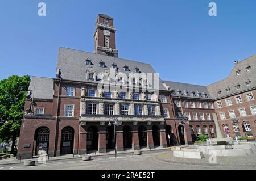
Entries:
{"type": "Polygon", "coordinates": [[[59,47],[93,52],[97,14],[114,18],[119,57],[162,79],[209,85],[256,53],[255,0],[0,0],[0,79],[55,77],[59,47]],[[38,16],[38,3],[47,6],[38,16]],[[217,3],[217,16],[208,15],[217,3]]]}

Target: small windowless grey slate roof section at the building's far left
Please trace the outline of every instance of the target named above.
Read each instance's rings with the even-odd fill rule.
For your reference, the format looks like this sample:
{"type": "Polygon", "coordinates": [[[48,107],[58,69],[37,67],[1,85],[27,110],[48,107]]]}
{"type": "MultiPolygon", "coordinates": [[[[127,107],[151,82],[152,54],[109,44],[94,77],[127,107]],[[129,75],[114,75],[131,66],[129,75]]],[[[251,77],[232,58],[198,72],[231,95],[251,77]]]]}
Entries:
{"type": "Polygon", "coordinates": [[[32,90],[32,95],[34,94],[35,99],[53,99],[53,79],[43,77],[32,77],[28,90],[32,90]]]}

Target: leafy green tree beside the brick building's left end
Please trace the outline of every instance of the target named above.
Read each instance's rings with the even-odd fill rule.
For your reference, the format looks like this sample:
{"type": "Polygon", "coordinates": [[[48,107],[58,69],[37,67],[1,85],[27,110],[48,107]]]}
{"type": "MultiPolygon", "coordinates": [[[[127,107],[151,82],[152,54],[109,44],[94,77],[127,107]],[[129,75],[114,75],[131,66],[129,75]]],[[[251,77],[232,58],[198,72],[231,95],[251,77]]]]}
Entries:
{"type": "Polygon", "coordinates": [[[19,135],[29,84],[29,75],[12,75],[0,81],[0,117],[4,116],[9,122],[7,126],[0,125],[0,142],[11,139],[11,153],[14,152],[16,137],[19,135]]]}

